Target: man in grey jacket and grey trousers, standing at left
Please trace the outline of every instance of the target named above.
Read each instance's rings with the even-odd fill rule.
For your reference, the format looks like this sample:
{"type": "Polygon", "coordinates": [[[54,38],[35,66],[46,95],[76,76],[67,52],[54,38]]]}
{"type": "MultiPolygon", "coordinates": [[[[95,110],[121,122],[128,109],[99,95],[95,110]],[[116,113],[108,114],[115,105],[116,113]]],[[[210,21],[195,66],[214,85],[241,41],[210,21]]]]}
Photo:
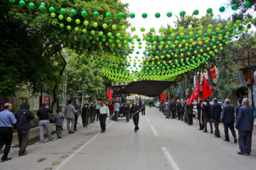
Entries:
{"type": "Polygon", "coordinates": [[[68,133],[74,133],[74,124],[75,124],[75,106],[71,104],[71,101],[68,101],[68,105],[65,106],[65,118],[67,120],[67,128],[68,133]],[[71,122],[71,128],[70,128],[70,122],[71,122]]]}

